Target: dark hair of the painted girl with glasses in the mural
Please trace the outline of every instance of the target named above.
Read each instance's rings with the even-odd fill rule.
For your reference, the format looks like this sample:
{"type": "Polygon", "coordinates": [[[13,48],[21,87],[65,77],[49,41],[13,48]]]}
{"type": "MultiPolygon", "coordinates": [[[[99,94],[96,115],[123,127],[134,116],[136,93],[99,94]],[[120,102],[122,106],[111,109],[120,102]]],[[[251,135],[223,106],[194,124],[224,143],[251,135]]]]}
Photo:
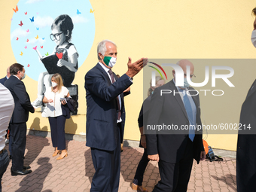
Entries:
{"type": "Polygon", "coordinates": [[[53,21],[53,24],[51,25],[51,29],[53,27],[58,26],[60,31],[62,31],[66,35],[66,41],[70,41],[72,30],[74,28],[72,18],[69,17],[67,14],[61,14],[59,17],[56,17],[56,19],[53,21]],[[68,34],[69,31],[69,34],[68,34]]]}

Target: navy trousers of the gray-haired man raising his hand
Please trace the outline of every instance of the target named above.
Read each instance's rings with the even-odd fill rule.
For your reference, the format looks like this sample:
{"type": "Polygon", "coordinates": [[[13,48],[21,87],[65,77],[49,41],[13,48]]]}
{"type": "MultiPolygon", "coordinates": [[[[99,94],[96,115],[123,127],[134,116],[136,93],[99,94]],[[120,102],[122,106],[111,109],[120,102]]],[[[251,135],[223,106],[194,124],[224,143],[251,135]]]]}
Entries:
{"type": "MultiPolygon", "coordinates": [[[[120,128],[117,126],[117,129],[120,128]]],[[[117,148],[114,151],[105,151],[91,148],[93,175],[90,192],[117,192],[120,179],[120,135],[117,138],[117,148]]]]}

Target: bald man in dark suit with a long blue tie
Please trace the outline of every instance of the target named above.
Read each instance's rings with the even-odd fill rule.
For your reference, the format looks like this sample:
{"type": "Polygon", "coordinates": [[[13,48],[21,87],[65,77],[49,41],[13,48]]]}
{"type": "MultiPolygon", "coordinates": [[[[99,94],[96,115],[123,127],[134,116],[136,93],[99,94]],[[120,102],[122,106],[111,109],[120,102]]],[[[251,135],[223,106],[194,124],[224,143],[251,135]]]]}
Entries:
{"type": "Polygon", "coordinates": [[[179,61],[178,66],[184,72],[184,86],[175,86],[173,70],[174,79],[154,90],[145,126],[148,159],[157,160],[161,176],[153,191],[187,191],[193,159],[199,163],[206,158],[202,132],[192,129],[202,124],[199,96],[189,87],[186,78],[186,66],[190,66],[190,78],[194,75],[194,66],[186,59],[179,61]],[[164,130],[164,126],[161,131],[151,129],[158,125],[169,126],[169,129],[164,130]]]}

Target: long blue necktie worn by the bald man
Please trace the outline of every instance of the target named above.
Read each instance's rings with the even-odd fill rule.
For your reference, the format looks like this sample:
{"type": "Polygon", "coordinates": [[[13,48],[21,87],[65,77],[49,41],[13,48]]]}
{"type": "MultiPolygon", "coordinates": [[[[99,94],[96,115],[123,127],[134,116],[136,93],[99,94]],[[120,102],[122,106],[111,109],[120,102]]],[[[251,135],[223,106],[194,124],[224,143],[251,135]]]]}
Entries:
{"type": "Polygon", "coordinates": [[[193,129],[194,128],[193,111],[192,111],[190,101],[187,97],[186,91],[184,92],[183,102],[184,102],[184,107],[186,108],[186,111],[187,111],[188,120],[190,123],[192,123],[189,129],[188,137],[193,142],[195,137],[195,130],[193,129]]]}

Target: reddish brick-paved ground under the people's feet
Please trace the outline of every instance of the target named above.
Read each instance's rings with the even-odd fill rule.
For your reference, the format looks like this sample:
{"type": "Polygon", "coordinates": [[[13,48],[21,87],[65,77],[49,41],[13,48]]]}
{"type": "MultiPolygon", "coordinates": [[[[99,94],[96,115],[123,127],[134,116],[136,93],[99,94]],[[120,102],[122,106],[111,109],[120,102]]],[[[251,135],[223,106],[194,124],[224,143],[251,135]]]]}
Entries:
{"type": "MultiPolygon", "coordinates": [[[[30,165],[33,172],[24,176],[11,176],[10,163],[2,178],[2,191],[90,191],[94,173],[90,148],[85,146],[85,142],[78,141],[66,141],[66,145],[69,156],[56,160],[56,157],[52,157],[50,138],[27,136],[25,164],[30,165]]],[[[134,191],[130,183],[133,181],[142,152],[142,148],[123,148],[120,192],[134,191]]],[[[148,191],[152,191],[159,180],[157,163],[150,162],[145,171],[143,185],[148,191]]],[[[194,163],[187,191],[236,191],[236,160],[224,158],[220,163],[194,163]]]]}

